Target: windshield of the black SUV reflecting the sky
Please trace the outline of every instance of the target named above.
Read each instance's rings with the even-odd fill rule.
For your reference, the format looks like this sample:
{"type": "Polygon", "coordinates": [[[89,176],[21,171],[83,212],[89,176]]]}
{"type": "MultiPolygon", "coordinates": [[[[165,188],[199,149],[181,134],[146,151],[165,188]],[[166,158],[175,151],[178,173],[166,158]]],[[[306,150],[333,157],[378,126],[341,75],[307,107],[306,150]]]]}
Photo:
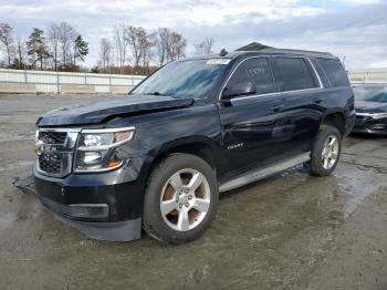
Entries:
{"type": "Polygon", "coordinates": [[[132,94],[168,95],[175,99],[206,97],[229,61],[212,59],[171,62],[145,80],[132,94]]]}

